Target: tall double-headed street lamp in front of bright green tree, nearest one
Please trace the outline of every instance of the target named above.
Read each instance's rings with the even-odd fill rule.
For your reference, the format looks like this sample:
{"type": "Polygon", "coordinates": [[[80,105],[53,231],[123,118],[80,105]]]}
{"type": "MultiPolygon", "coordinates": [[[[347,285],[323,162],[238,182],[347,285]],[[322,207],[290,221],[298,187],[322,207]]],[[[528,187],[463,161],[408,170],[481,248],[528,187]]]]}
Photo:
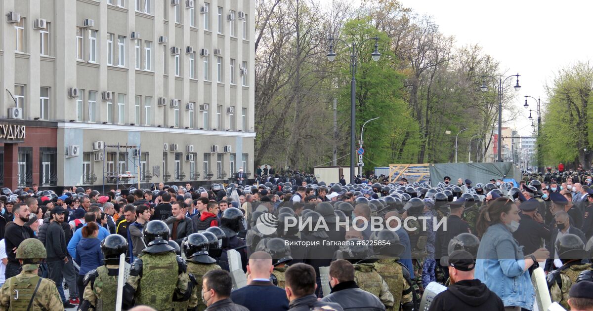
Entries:
{"type": "MultiPolygon", "coordinates": [[[[333,62],[337,56],[336,52],[334,52],[333,50],[334,40],[341,41],[344,44],[346,44],[346,46],[349,46],[349,44],[346,41],[339,38],[329,38],[327,40],[329,40],[330,42],[330,51],[329,53],[327,53],[327,60],[333,62]]],[[[374,37],[365,39],[359,44],[359,46],[362,46],[362,44],[368,40],[375,40],[375,50],[371,53],[371,57],[372,60],[378,62],[378,60],[381,57],[381,53],[379,53],[379,38],[374,37]]],[[[358,65],[358,50],[356,49],[356,43],[353,42],[352,44],[350,44],[348,50],[350,52],[350,73],[352,74],[352,81],[350,82],[350,182],[354,184],[354,162],[356,156],[356,138],[354,133],[354,129],[356,127],[356,66],[358,65]]]]}

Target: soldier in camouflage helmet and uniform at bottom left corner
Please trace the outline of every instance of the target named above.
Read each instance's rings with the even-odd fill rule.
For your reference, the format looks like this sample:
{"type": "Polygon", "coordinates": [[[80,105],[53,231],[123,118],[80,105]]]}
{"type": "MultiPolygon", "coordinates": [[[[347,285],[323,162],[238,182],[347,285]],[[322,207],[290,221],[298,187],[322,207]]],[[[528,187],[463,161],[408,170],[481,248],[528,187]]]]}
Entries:
{"type": "Polygon", "coordinates": [[[21,242],[16,258],[23,271],[6,280],[0,289],[0,310],[64,309],[56,284],[37,275],[39,264],[46,257],[45,247],[39,240],[30,238],[21,242]]]}

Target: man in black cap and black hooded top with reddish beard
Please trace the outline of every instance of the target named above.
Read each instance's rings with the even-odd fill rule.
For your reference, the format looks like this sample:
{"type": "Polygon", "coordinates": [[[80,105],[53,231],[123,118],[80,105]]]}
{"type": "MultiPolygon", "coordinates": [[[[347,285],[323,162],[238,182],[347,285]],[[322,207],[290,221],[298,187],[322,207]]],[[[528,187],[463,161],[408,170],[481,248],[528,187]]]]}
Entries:
{"type": "Polygon", "coordinates": [[[476,261],[469,252],[454,251],[441,259],[441,265],[448,267],[451,285],[435,296],[429,311],[505,310],[502,300],[486,284],[474,278],[476,261]]]}

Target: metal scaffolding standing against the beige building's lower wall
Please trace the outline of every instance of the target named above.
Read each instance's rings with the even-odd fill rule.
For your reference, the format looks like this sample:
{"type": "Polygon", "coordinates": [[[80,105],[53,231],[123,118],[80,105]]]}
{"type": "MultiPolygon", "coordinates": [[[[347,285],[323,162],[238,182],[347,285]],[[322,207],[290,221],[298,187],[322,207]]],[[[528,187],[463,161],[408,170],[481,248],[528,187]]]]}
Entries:
{"type": "Polygon", "coordinates": [[[120,185],[126,187],[127,189],[131,188],[133,185],[138,185],[139,189],[141,181],[150,181],[152,175],[148,174],[147,168],[145,168],[146,172],[144,173],[144,176],[142,176],[141,150],[141,145],[120,145],[118,143],[117,145],[103,146],[103,189],[101,190],[102,193],[105,193],[105,184],[115,184],[117,189],[119,189],[120,185]],[[108,161],[107,156],[112,153],[114,153],[115,156],[113,158],[112,166],[109,167],[110,161],[108,161]],[[124,164],[123,171],[122,167],[120,167],[120,164],[122,164],[122,162],[124,164]],[[135,168],[135,170],[130,169],[130,165],[131,168],[135,168]]]}

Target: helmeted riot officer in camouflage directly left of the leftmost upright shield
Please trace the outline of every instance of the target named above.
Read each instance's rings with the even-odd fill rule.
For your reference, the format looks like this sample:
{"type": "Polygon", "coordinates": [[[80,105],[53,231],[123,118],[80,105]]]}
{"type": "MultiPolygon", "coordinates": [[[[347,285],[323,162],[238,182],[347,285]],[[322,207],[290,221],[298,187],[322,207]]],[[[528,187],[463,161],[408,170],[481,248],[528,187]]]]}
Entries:
{"type": "Polygon", "coordinates": [[[121,235],[109,235],[101,242],[105,265],[91,270],[85,275],[82,283],[84,294],[80,304],[81,311],[116,309],[119,257],[121,254],[126,254],[126,251],[127,241],[121,235]]]}

